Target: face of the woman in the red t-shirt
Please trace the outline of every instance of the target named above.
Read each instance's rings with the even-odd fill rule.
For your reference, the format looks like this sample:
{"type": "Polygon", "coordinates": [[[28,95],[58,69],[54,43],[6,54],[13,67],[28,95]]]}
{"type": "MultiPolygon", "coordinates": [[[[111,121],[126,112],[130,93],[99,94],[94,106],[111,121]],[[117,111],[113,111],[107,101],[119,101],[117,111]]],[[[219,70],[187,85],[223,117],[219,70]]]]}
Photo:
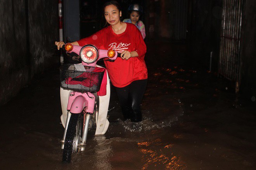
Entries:
{"type": "Polygon", "coordinates": [[[104,16],[107,23],[113,26],[120,22],[122,12],[115,5],[107,5],[104,10],[104,16]]]}

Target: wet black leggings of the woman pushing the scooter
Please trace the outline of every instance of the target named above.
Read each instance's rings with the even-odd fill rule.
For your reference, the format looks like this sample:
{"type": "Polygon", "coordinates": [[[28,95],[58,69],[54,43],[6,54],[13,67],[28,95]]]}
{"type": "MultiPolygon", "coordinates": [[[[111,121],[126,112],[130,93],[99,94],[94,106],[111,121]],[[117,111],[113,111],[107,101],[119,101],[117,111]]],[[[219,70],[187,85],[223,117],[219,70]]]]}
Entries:
{"type": "Polygon", "coordinates": [[[136,80],[122,88],[116,87],[125,120],[131,119],[132,122],[140,122],[142,120],[140,104],[146,87],[147,79],[136,80]]]}

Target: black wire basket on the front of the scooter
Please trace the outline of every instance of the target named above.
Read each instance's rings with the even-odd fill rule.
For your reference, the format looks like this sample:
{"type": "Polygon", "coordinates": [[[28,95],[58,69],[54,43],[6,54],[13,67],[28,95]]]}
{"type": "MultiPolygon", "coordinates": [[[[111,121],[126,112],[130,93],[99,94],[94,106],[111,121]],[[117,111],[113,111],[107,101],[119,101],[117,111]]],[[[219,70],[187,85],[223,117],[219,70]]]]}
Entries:
{"type": "Polygon", "coordinates": [[[105,70],[98,69],[100,72],[96,72],[96,67],[84,66],[84,68],[86,71],[78,71],[73,64],[62,65],[60,68],[61,87],[77,92],[98,92],[105,70]]]}

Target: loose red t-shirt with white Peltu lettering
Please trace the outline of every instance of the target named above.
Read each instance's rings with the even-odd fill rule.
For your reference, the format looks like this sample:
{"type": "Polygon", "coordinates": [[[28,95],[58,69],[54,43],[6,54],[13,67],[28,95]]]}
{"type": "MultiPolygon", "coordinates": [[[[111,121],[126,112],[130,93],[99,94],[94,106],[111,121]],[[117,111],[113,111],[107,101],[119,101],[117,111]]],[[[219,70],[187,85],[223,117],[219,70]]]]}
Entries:
{"type": "Polygon", "coordinates": [[[118,57],[114,62],[104,61],[115,87],[125,87],[135,80],[147,79],[147,67],[144,61],[147,47],[138,28],[133,24],[126,24],[126,30],[121,34],[115,34],[112,27],[108,26],[90,37],[77,41],[80,46],[92,44],[99,49],[113,49],[118,53],[125,50],[138,53],[137,57],[128,60],[118,57]]]}

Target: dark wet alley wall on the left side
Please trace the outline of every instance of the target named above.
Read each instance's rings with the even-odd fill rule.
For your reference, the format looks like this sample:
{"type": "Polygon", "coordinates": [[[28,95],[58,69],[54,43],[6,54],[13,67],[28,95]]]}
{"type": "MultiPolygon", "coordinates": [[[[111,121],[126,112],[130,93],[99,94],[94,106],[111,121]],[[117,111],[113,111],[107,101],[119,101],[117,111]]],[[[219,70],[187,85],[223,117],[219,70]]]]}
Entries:
{"type": "Polygon", "coordinates": [[[58,63],[50,48],[58,39],[58,1],[1,0],[0,105],[34,75],[58,63]]]}

